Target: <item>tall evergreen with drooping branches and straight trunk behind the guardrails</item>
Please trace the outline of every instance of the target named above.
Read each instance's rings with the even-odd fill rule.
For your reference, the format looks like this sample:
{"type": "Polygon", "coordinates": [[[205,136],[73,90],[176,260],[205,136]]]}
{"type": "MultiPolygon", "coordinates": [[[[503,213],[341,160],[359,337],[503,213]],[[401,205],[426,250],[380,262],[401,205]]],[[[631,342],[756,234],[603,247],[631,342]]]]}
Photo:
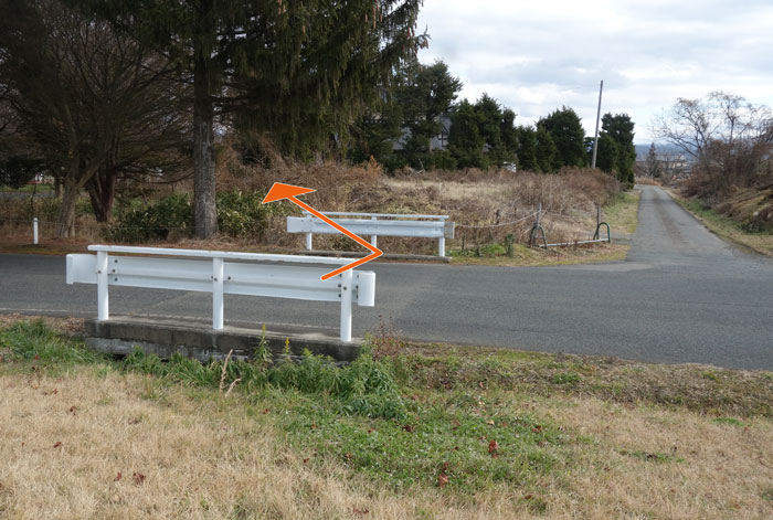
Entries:
{"type": "Polygon", "coordinates": [[[197,236],[216,231],[215,114],[271,129],[286,150],[346,129],[424,44],[421,0],[70,0],[173,60],[193,83],[197,236]]]}

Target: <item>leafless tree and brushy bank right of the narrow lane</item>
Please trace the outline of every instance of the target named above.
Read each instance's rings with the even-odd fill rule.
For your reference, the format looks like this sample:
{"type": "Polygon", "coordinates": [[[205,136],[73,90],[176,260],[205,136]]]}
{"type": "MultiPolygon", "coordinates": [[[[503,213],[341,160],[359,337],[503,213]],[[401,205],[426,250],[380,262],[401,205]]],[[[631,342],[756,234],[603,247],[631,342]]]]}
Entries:
{"type": "MultiPolygon", "coordinates": [[[[714,233],[759,253],[773,250],[773,110],[713,92],[679,98],[655,123],[656,136],[690,159],[679,202],[714,233]]],[[[654,151],[652,151],[654,153],[654,151]]],[[[652,171],[657,171],[658,163],[652,171]]]]}

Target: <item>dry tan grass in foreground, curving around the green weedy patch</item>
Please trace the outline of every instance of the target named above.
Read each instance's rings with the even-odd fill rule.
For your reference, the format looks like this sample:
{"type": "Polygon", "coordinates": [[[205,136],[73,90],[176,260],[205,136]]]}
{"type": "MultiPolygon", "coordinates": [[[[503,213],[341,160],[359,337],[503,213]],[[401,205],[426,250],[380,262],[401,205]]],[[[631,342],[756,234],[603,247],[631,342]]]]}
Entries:
{"type": "Polygon", "coordinates": [[[575,439],[538,488],[403,492],[294,453],[243,397],[151,378],[0,375],[3,518],[764,519],[773,429],[593,397],[521,404],[575,439]],[[60,444],[61,443],[61,444],[60,444]],[[358,512],[359,511],[359,512],[358,512]],[[368,512],[364,512],[368,511],[368,512]]]}

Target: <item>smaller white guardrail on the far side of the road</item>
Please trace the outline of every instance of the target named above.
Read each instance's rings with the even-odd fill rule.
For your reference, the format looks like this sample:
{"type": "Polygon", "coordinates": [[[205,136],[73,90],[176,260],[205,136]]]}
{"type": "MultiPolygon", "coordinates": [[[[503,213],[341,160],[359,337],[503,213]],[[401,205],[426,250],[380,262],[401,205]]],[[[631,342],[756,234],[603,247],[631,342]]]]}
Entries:
{"type": "MultiPolygon", "coordinates": [[[[322,213],[326,216],[350,216],[351,219],[335,220],[357,235],[370,235],[370,243],[374,247],[378,245],[378,236],[416,236],[424,238],[437,238],[437,254],[440,256],[445,256],[445,240],[454,237],[454,223],[447,220],[448,215],[407,215],[327,211],[322,213]]],[[[304,216],[287,217],[287,232],[306,233],[307,251],[313,250],[311,241],[314,233],[339,233],[338,230],[326,224],[306,211],[304,212],[304,216]]]]}

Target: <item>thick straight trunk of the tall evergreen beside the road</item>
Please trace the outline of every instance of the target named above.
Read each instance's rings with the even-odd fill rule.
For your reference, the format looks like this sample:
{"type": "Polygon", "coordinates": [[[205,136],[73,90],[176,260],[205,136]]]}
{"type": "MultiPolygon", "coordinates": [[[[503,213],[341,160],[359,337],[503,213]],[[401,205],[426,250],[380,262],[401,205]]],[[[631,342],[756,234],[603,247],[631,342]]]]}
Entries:
{"type": "Polygon", "coordinates": [[[214,109],[209,57],[197,53],[193,78],[193,197],[198,238],[211,238],[218,232],[214,183],[214,109]]]}

